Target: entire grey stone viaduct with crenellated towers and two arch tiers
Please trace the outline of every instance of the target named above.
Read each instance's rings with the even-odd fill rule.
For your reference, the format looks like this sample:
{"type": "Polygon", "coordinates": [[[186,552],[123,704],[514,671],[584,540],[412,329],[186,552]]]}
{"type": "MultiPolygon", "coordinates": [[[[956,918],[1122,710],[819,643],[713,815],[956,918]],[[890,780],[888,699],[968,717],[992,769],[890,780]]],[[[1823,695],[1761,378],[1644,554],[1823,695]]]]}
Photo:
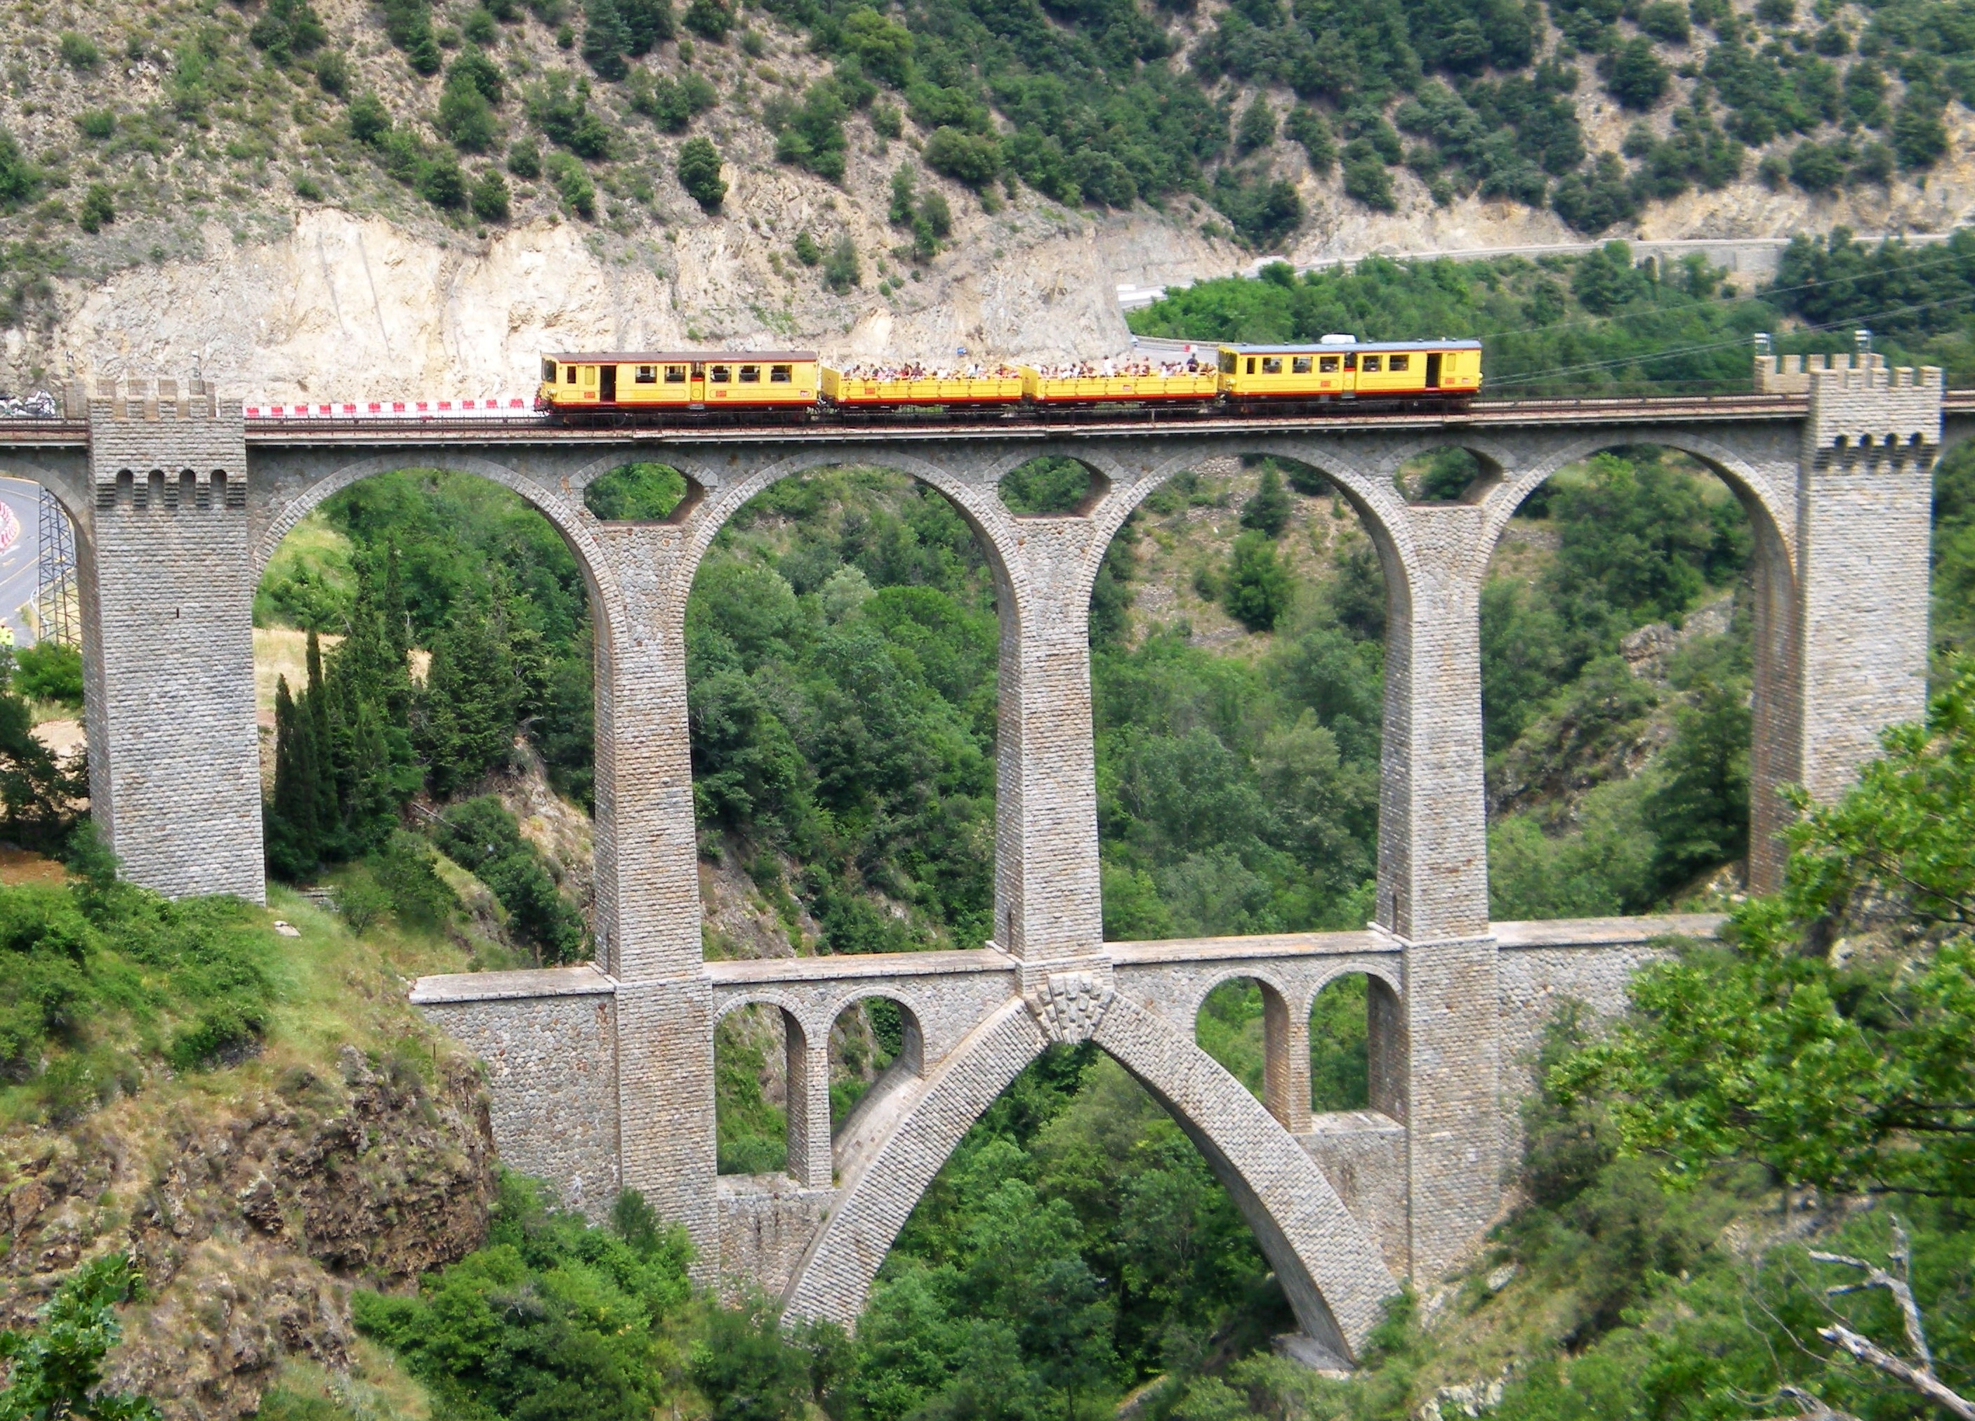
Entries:
{"type": "Polygon", "coordinates": [[[488,1062],[510,1164],[591,1210],[636,1186],[683,1222],[705,1277],[855,1320],[914,1202],[980,1111],[1051,1042],[1092,1040],[1228,1186],[1309,1338],[1351,1358],[1400,1277],[1432,1279],[1495,1216],[1515,1097],[1550,1005],[1621,1001],[1665,932],[1710,920],[1491,924],[1479,596],[1521,499],[1600,448],[1714,468],[1756,529],[1752,876],[1779,874],[1783,784],[1831,795],[1876,732],[1924,709],[1930,472],[1975,405],[1874,361],[1758,371],[1742,401],[1483,405],[1473,412],[1189,424],[624,432],[257,422],[201,385],[73,395],[0,428],[0,472],[77,529],[91,803],[126,874],[168,894],[265,896],[251,604],[324,497],[405,466],[480,474],[533,503],[585,568],[596,628],[596,963],[425,979],[413,1001],[488,1062]],[[79,409],[85,405],[87,409],[79,409]],[[1943,416],[1945,405],[1945,416],[1943,416]],[[1483,478],[1414,503],[1394,474],[1458,444],[1483,478]],[[1092,470],[1066,515],[999,480],[1039,454],[1092,470]],[[1388,588],[1377,916],[1363,932],[1106,943],[1086,608],[1126,515],[1203,458],[1321,470],[1388,588]],[[598,521],[585,486],[662,460],[689,480],[656,523],[598,521]],[[721,523],[780,478],[879,464],[940,489],[993,568],[1001,618],[993,939],[970,951],[703,961],[687,744],[685,598],[721,523]],[[1311,1117],[1307,1022],[1333,977],[1371,981],[1373,1109],[1311,1117]],[[1193,1038],[1209,989],[1262,983],[1258,1101],[1193,1038]],[[907,1048],[831,1137],[828,1038],[899,1003],[907,1048]],[[713,1030],[749,1003],[788,1042],[788,1174],[719,1176],[713,1030]]]}

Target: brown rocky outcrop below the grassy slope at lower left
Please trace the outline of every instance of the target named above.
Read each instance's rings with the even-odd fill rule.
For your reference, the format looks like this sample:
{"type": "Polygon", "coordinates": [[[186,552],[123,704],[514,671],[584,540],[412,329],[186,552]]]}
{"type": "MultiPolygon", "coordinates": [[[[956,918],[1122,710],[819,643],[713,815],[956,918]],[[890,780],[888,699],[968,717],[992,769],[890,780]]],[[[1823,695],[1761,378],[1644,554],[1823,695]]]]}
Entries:
{"type": "Polygon", "coordinates": [[[494,1139],[472,1064],[290,1068],[237,1101],[152,1093],[65,1133],[0,1137],[0,1326],[26,1326],[73,1271],[126,1251],[111,1384],[172,1421],[253,1415],[275,1368],[350,1362],[352,1283],[393,1285],[486,1237],[494,1139]]]}

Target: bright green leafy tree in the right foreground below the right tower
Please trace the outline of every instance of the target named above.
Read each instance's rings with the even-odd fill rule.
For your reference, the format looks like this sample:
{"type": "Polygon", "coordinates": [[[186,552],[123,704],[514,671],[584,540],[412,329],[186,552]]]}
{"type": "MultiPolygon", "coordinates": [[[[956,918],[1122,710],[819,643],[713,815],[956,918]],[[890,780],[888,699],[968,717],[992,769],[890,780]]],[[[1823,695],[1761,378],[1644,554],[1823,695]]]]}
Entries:
{"type": "Polygon", "coordinates": [[[1781,894],[1730,945],[1641,973],[1633,1012],[1550,1072],[1606,1097],[1675,1178],[1758,1160],[1785,1184],[1975,1190],[1975,667],[1837,803],[1791,829],[1781,894]]]}

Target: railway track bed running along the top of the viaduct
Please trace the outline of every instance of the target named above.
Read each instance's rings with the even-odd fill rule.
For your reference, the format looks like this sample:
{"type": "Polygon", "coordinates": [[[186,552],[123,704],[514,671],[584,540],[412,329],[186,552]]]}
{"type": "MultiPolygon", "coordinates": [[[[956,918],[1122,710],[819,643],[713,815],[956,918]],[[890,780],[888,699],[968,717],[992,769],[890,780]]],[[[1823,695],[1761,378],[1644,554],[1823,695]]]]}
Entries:
{"type": "MultiPolygon", "coordinates": [[[[1807,409],[1803,395],[1655,395],[1655,397],[1550,397],[1479,399],[1465,409],[1430,411],[1298,411],[1292,414],[1201,414],[1147,409],[1090,418],[926,418],[895,424],[675,424],[571,428],[545,416],[525,418],[255,418],[247,424],[247,444],[282,446],[431,446],[431,444],[756,444],[756,442],[839,442],[873,440],[924,442],[954,438],[1055,440],[1165,434],[1315,434],[1329,430],[1377,428],[1517,428],[1529,424],[1687,424],[1718,418],[1793,420],[1807,409]]],[[[1947,414],[1975,414],[1975,389],[1947,391],[1947,414]]],[[[89,424],[83,420],[0,422],[0,448],[85,450],[89,424]]]]}

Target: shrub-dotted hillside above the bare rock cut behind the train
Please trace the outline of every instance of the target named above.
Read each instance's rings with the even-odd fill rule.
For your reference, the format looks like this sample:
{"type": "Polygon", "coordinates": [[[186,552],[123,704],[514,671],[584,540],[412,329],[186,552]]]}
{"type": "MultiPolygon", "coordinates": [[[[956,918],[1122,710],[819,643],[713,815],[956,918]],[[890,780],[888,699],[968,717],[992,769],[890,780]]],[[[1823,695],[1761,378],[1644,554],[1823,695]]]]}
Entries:
{"type": "Polygon", "coordinates": [[[833,292],[873,264],[889,290],[956,205],[1025,193],[1153,203],[1254,249],[1313,201],[1477,195],[1600,233],[1689,187],[1924,182],[1975,97],[1951,0],[36,0],[4,34],[8,326],[53,310],[51,278],[314,203],[567,219],[664,268],[735,166],[875,205],[891,251],[828,203],[776,233],[782,272],[833,292]]]}

